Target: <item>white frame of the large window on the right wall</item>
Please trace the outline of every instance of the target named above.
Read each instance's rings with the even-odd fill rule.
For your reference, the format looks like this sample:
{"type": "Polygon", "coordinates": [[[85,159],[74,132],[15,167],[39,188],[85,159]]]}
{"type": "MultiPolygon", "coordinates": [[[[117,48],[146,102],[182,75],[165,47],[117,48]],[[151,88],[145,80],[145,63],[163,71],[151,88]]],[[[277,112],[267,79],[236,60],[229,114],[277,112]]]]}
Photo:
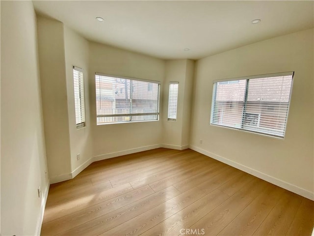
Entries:
{"type": "MultiPolygon", "coordinates": [[[[284,139],[285,134],[286,134],[286,130],[287,130],[287,122],[288,122],[288,113],[289,113],[289,107],[290,107],[290,100],[291,100],[291,93],[292,93],[292,86],[293,86],[293,76],[294,76],[294,72],[293,71],[289,71],[289,72],[282,72],[282,73],[274,73],[274,74],[264,74],[264,75],[254,75],[254,76],[246,76],[246,77],[239,77],[239,78],[233,78],[233,79],[224,79],[224,80],[215,80],[213,81],[213,92],[212,92],[212,102],[211,102],[211,109],[210,109],[210,125],[214,125],[214,126],[221,126],[221,127],[226,127],[226,128],[230,128],[230,129],[236,129],[236,130],[241,130],[241,131],[245,131],[245,132],[251,132],[251,133],[256,133],[256,134],[260,134],[260,135],[264,135],[264,136],[270,136],[270,137],[275,137],[275,138],[279,138],[279,139],[284,139]],[[290,92],[289,92],[289,99],[288,99],[288,107],[287,107],[287,114],[286,114],[286,121],[285,121],[285,126],[284,126],[284,131],[282,135],[276,135],[276,134],[272,134],[271,133],[271,129],[269,128],[264,128],[264,130],[262,131],[256,131],[254,129],[249,129],[249,128],[244,128],[243,126],[243,120],[245,117],[245,114],[247,114],[246,112],[246,103],[247,103],[247,94],[248,94],[248,89],[249,89],[249,81],[252,79],[261,79],[261,78],[271,78],[271,77],[279,77],[279,76],[292,76],[291,79],[291,87],[290,87],[290,92]],[[245,97],[244,97],[244,108],[242,111],[242,125],[241,127],[235,127],[235,126],[228,126],[228,125],[222,125],[222,124],[217,124],[213,121],[214,119],[214,105],[215,105],[215,99],[216,99],[216,86],[217,83],[219,82],[228,82],[227,84],[234,84],[237,83],[237,81],[240,80],[246,80],[246,88],[245,88],[245,97]],[[235,81],[235,82],[233,82],[235,81]]],[[[250,113],[250,112],[248,112],[250,113]]],[[[259,115],[258,118],[258,125],[260,125],[260,119],[261,119],[261,114],[255,114],[255,115],[259,115]]]]}

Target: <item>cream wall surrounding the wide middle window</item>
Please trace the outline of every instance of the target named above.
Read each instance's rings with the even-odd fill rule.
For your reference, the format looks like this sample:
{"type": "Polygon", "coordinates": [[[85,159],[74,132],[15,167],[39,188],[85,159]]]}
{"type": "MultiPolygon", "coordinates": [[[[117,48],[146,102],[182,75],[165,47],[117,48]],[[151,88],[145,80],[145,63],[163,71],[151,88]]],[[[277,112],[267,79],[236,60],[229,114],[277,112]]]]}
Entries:
{"type": "MultiPolygon", "coordinates": [[[[89,46],[89,100],[94,156],[130,149],[143,150],[141,148],[144,147],[156,148],[162,139],[161,120],[96,125],[95,72],[163,82],[165,62],[98,43],[90,42],[89,46]]],[[[161,118],[162,111],[160,113],[161,118]]]]}

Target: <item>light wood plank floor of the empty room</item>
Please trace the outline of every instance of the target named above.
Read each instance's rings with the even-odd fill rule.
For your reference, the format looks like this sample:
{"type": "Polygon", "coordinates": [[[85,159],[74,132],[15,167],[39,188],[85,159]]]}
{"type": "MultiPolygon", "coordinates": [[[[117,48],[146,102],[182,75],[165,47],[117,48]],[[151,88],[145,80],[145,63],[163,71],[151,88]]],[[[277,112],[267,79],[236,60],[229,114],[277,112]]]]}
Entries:
{"type": "Polygon", "coordinates": [[[52,184],[41,235],[310,236],[313,226],[313,201],[193,150],[158,148],[52,184]]]}

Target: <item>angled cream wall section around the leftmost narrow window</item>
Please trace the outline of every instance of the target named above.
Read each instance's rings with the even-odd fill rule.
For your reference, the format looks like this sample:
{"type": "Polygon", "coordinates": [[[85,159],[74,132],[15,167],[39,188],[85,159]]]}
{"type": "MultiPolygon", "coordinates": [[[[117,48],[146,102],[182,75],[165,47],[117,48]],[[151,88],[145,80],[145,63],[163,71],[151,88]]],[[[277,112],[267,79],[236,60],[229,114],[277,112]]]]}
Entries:
{"type": "MultiPolygon", "coordinates": [[[[72,173],[80,168],[83,170],[89,165],[92,156],[92,135],[89,111],[89,84],[88,84],[88,41],[72,29],[64,26],[64,48],[65,48],[65,70],[68,97],[69,132],[71,145],[71,170],[72,173]],[[85,95],[85,123],[86,126],[76,128],[75,102],[73,86],[73,66],[83,69],[84,74],[84,95],[85,95]],[[77,154],[79,153],[79,160],[77,154]]],[[[80,171],[81,171],[80,170],[80,171]]],[[[79,171],[78,171],[79,173],[79,171]]],[[[77,173],[77,174],[78,174],[77,173]]]]}

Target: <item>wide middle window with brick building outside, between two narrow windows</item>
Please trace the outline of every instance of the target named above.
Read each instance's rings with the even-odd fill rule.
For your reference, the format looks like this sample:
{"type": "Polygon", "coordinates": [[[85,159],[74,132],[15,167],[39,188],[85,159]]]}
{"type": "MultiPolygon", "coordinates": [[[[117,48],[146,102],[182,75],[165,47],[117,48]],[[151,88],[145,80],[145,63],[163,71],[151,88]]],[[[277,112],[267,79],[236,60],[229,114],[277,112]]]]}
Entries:
{"type": "Polygon", "coordinates": [[[97,124],[159,119],[157,81],[96,73],[97,124]]]}

